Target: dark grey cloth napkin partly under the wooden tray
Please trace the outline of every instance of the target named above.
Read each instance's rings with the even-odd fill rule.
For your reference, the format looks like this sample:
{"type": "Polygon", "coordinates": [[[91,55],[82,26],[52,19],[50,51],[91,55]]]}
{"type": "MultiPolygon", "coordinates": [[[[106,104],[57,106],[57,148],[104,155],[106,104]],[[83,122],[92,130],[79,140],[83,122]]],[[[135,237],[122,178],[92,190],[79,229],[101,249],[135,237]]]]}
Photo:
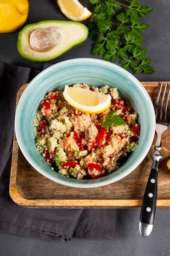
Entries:
{"type": "Polygon", "coordinates": [[[25,209],[9,195],[16,95],[40,72],[0,61],[0,231],[55,241],[114,239],[116,209],[25,209]]]}

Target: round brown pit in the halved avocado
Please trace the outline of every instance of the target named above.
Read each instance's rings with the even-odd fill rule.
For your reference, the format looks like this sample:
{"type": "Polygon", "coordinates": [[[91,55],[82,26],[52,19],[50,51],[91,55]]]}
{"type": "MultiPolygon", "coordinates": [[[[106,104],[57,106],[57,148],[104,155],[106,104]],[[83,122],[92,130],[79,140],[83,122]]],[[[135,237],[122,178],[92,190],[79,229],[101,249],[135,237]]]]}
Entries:
{"type": "Polygon", "coordinates": [[[48,52],[61,40],[61,34],[57,28],[36,29],[30,34],[29,43],[36,52],[48,52]]]}

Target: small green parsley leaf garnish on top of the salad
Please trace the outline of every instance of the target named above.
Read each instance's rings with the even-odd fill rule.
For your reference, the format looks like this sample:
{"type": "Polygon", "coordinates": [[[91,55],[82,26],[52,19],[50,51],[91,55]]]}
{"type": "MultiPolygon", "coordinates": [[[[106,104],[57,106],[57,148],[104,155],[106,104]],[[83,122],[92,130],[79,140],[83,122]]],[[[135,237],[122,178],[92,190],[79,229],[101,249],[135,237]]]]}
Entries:
{"type": "Polygon", "coordinates": [[[110,126],[114,126],[115,124],[117,126],[120,126],[121,124],[125,124],[125,121],[121,118],[121,115],[115,114],[117,111],[111,111],[108,113],[106,120],[104,121],[104,124],[102,125],[107,130],[110,126]]]}

